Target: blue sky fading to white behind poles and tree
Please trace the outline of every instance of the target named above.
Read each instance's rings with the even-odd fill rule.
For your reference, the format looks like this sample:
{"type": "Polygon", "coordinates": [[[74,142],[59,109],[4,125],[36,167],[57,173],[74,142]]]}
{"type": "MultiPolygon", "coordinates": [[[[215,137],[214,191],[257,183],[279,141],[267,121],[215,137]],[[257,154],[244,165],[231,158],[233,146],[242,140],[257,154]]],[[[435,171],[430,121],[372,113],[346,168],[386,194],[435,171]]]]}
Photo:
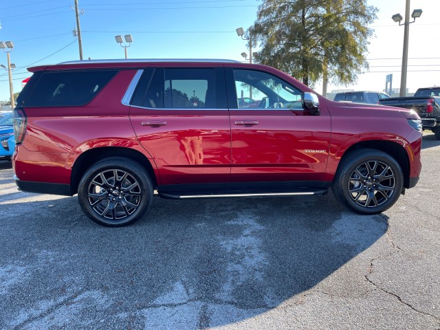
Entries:
{"type": "MultiPolygon", "coordinates": [[[[380,90],[386,75],[393,74],[393,88],[400,86],[404,26],[391,19],[405,16],[406,0],[368,0],[379,9],[371,24],[369,72],[355,84],[332,85],[338,89],[380,90]]],[[[244,61],[246,41],[235,29],[249,28],[256,20],[259,0],[78,0],[83,14],[80,30],[84,59],[124,58],[115,35],[131,34],[129,58],[227,58],[244,61]]],[[[0,0],[0,41],[12,41],[11,63],[14,92],[35,65],[79,60],[74,0],[0,0]]],[[[440,0],[411,0],[410,12],[423,14],[410,24],[407,88],[440,85],[440,0]]],[[[258,51],[258,45],[254,51],[258,51]]],[[[0,51],[0,64],[7,66],[0,51]]],[[[314,86],[322,93],[318,82],[314,86]]],[[[0,67],[0,100],[9,99],[8,72],[0,67]]]]}

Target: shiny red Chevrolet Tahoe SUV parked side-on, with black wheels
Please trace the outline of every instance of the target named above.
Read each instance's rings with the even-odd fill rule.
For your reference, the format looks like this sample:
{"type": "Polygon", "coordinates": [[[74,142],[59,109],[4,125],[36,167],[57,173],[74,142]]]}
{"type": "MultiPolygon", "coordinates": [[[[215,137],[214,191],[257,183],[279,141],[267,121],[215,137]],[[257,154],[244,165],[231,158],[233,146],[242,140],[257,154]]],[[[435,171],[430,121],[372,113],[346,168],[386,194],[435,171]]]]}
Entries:
{"type": "Polygon", "coordinates": [[[345,206],[374,214],[419,179],[416,113],[333,102],[272,67],[77,61],[30,72],[14,109],[17,186],[78,193],[102,225],[140,219],[153,195],[321,195],[330,187],[345,206]],[[248,95],[252,107],[238,102],[248,95]]]}

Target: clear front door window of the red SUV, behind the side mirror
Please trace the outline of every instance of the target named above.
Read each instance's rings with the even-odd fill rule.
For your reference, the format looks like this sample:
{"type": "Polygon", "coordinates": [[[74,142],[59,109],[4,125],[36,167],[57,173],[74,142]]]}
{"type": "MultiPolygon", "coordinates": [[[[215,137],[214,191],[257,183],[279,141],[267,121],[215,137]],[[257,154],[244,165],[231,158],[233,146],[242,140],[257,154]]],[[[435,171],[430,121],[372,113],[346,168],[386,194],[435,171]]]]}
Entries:
{"type": "Polygon", "coordinates": [[[303,109],[303,93],[272,74],[234,69],[239,108],[303,109]]]}

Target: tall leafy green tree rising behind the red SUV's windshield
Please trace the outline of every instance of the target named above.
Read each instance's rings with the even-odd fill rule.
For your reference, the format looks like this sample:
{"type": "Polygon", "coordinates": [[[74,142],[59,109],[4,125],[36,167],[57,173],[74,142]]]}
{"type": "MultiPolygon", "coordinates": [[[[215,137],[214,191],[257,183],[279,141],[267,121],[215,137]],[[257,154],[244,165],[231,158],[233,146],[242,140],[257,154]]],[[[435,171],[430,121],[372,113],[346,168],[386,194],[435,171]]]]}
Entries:
{"type": "Polygon", "coordinates": [[[366,51],[377,8],[366,0],[263,0],[248,33],[255,59],[313,85],[321,78],[354,83],[368,68],[366,51]]]}

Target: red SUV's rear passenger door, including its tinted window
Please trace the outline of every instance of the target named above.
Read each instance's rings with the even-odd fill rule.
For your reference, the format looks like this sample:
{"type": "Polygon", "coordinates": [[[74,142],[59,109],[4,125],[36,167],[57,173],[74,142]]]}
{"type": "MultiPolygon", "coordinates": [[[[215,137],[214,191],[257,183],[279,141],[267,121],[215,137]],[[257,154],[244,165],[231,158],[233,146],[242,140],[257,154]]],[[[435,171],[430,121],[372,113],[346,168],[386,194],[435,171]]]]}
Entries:
{"type": "Polygon", "coordinates": [[[155,160],[159,185],[214,183],[230,178],[229,112],[217,109],[216,102],[217,98],[226,99],[223,69],[215,69],[214,76],[210,73],[206,77],[203,70],[150,69],[141,78],[150,81],[139,85],[146,86],[144,96],[133,96],[137,105],[131,106],[131,123],[138,140],[155,160]],[[203,81],[205,78],[208,82],[203,81]]]}

